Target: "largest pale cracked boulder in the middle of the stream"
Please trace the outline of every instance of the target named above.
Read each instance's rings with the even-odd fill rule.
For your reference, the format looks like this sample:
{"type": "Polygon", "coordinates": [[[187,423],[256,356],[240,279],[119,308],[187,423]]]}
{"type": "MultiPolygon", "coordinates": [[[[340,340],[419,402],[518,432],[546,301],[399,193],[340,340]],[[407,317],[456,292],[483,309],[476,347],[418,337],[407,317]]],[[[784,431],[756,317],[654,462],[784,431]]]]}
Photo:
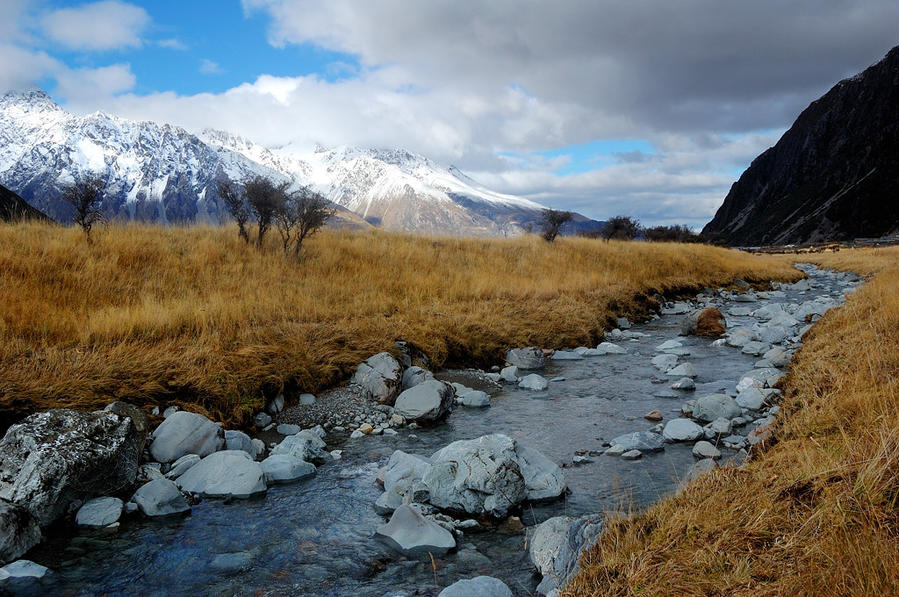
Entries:
{"type": "Polygon", "coordinates": [[[422,482],[438,508],[503,517],[525,500],[561,495],[565,484],[557,469],[536,450],[493,434],[456,441],[435,452],[422,482]]]}

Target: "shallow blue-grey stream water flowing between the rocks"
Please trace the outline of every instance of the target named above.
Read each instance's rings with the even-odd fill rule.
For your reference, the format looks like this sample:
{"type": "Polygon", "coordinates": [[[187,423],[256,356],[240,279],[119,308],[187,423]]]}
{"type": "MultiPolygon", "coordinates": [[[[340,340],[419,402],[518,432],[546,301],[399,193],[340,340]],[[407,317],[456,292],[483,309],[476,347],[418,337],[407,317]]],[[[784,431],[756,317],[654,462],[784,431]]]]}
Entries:
{"type": "MultiPolygon", "coordinates": [[[[810,292],[788,291],[748,306],[839,297],[849,285],[814,272],[813,280],[817,287],[810,292]]],[[[628,354],[551,361],[541,373],[564,380],[550,383],[548,390],[505,385],[493,394],[489,408],[457,407],[436,428],[357,440],[331,434],[328,449],[342,449],[341,460],[320,466],[316,475],[297,484],[274,486],[262,498],[204,501],[175,521],[124,519],[115,534],[73,536],[67,531],[28,557],[54,570],[51,590],[57,595],[436,595],[459,578],[478,574],[502,579],[516,595],[530,595],[539,578],[527,558],[525,533],[466,534],[457,552],[433,565],[399,556],[374,539],[375,528],[385,521],[372,508],[381,492],[375,482],[378,468],[397,449],[430,455],[452,441],[488,433],[507,434],[556,462],[571,463],[577,450],[601,452],[604,442],[617,435],[649,430],[654,424],[643,419],[648,411],[658,409],[668,420],[679,416],[687,399],[733,391],[758,357],[714,347],[708,339],[678,338],[682,317],[665,315],[635,325],[633,330],[647,336],[619,342],[628,354]],[[697,389],[659,397],[674,394],[668,390],[674,379],[650,359],[658,354],[657,345],[673,338],[690,352],[680,362],[696,367],[697,389]]],[[[728,317],[729,327],[752,321],[728,317]]],[[[690,449],[691,444],[669,444],[664,452],[636,461],[591,456],[591,462],[564,469],[567,496],[525,506],[521,518],[530,526],[561,514],[643,508],[675,491],[694,463],[690,449]]]]}

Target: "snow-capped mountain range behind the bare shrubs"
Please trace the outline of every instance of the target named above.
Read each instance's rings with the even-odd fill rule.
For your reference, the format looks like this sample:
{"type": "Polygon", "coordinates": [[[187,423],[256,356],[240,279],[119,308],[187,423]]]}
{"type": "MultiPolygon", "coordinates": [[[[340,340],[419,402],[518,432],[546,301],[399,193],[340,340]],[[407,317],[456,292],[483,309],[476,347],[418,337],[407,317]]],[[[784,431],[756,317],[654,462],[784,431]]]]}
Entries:
{"type": "Polygon", "coordinates": [[[59,189],[87,173],[107,180],[110,215],[165,223],[224,221],[217,182],[256,175],[310,185],[392,230],[514,235],[543,209],[404,150],[266,148],[221,131],[194,135],[102,112],[77,116],[42,91],[0,97],[0,184],[66,221],[59,189]]]}

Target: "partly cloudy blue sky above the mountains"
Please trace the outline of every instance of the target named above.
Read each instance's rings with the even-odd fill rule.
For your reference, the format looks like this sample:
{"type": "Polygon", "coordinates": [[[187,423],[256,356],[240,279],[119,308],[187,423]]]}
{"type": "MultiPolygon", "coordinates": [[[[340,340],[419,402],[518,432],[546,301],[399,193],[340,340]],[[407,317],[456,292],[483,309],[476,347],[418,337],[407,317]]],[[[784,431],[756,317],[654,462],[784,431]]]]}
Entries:
{"type": "Polygon", "coordinates": [[[0,92],[271,147],[402,147],[596,219],[701,227],[895,0],[0,0],[0,92]]]}

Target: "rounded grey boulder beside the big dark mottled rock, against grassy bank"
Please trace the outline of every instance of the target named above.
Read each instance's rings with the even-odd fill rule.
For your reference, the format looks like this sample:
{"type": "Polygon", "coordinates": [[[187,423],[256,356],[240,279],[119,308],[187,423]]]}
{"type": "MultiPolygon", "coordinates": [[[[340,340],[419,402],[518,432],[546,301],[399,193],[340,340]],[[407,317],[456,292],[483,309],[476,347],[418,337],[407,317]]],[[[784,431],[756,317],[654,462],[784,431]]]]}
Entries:
{"type": "Polygon", "coordinates": [[[153,432],[150,454],[157,462],[174,462],[185,454],[200,458],[225,447],[225,432],[199,413],[179,410],[153,432]]]}

